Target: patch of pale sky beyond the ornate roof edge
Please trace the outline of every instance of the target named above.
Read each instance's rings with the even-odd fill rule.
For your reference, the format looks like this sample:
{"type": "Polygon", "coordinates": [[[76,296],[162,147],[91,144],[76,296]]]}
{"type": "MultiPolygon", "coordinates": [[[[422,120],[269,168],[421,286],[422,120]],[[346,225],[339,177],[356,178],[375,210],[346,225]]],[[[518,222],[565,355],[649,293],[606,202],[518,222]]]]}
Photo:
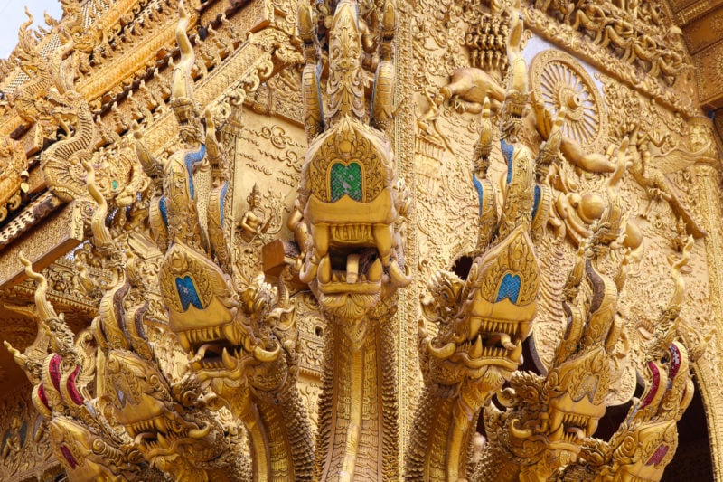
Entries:
{"type": "Polygon", "coordinates": [[[0,59],[6,59],[17,45],[17,30],[27,20],[25,5],[35,18],[33,25],[46,26],[43,11],[56,20],[61,18],[62,8],[58,0],[0,0],[0,59]]]}

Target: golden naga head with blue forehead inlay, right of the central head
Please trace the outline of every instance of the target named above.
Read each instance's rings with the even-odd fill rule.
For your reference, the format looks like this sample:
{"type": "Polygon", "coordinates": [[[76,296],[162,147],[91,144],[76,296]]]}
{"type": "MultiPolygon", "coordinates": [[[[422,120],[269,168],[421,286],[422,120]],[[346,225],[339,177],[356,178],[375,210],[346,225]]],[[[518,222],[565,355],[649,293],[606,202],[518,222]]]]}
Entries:
{"type": "Polygon", "coordinates": [[[477,257],[464,286],[445,285],[433,287],[449,301],[449,308],[441,300],[437,304],[445,329],[434,339],[420,329],[428,374],[444,384],[484,375],[487,391],[499,389],[521,361],[522,342],[537,309],[538,266],[525,227],[477,257]]]}

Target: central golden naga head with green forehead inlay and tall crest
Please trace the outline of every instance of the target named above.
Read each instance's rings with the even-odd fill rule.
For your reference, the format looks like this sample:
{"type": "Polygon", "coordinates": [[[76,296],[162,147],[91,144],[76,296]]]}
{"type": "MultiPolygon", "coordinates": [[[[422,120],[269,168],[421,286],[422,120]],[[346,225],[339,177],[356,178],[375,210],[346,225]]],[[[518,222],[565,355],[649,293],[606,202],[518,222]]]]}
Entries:
{"type": "Polygon", "coordinates": [[[389,138],[394,85],[390,43],[396,23],[392,1],[382,8],[380,64],[365,109],[365,72],[356,3],[336,5],[329,29],[326,109],[315,14],[302,2],[299,33],[305,42],[302,89],[309,148],[292,226],[304,259],[300,279],[322,308],[338,319],[361,319],[371,307],[410,279],[401,254],[397,222],[403,215],[389,138]],[[325,115],[324,115],[325,112],[325,115]],[[304,235],[302,235],[304,234],[304,235]]]}

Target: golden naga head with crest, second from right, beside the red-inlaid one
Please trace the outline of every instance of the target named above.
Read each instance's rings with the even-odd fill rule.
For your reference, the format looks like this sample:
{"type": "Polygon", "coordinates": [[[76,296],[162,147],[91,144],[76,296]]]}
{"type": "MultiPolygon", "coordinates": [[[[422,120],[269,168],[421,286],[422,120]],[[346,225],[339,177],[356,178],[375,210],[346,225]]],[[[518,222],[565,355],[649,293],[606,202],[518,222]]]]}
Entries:
{"type": "Polygon", "coordinates": [[[513,379],[513,390],[498,397],[513,408],[505,414],[502,429],[509,431],[508,449],[518,456],[526,454],[530,460],[524,470],[544,477],[577,458],[606,411],[620,326],[615,318],[615,280],[596,268],[599,238],[588,240],[578,251],[569,273],[565,287],[569,304],[563,304],[568,326],[549,372],[544,377],[530,373],[513,379]],[[587,286],[581,287],[583,283],[587,286]],[[589,297],[578,297],[581,291],[589,297]]]}

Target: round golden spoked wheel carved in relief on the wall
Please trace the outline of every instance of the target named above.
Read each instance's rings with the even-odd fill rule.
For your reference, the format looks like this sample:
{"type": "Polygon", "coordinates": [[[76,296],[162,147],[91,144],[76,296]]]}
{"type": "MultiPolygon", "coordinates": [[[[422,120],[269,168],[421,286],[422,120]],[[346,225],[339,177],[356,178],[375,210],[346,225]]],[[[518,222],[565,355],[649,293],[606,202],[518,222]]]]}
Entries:
{"type": "Polygon", "coordinates": [[[548,50],[531,62],[531,86],[553,117],[567,109],[563,134],[586,152],[603,148],[607,137],[605,104],[590,75],[565,52],[548,50]]]}

